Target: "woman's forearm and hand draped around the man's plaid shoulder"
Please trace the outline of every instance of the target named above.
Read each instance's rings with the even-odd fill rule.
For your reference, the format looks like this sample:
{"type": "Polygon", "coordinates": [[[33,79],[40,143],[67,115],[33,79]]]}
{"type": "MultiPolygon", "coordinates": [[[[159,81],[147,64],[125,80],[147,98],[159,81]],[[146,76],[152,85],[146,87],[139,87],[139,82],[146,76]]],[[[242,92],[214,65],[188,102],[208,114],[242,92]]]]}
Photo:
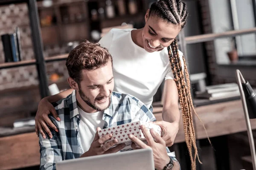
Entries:
{"type": "Polygon", "coordinates": [[[57,127],[52,123],[52,121],[49,119],[48,115],[52,113],[53,117],[61,121],[61,119],[58,117],[57,112],[55,111],[55,108],[52,106],[52,102],[57,102],[60,99],[63,99],[70,95],[72,93],[73,89],[69,89],[66,91],[63,91],[59,94],[55,94],[53,96],[47,96],[41,99],[41,101],[38,104],[38,110],[35,115],[35,132],[37,136],[39,136],[38,131],[41,133],[43,138],[46,137],[44,130],[48,133],[50,137],[52,137],[52,133],[49,130],[49,127],[52,127],[55,131],[58,132],[57,127]],[[48,125],[48,126],[47,126],[48,125]]]}

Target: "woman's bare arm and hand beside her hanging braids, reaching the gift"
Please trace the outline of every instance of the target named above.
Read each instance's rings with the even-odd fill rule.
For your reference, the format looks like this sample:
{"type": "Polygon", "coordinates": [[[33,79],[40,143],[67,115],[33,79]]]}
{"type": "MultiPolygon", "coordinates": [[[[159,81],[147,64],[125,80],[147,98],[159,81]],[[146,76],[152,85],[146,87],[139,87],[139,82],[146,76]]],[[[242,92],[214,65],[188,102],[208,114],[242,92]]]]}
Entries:
{"type": "Polygon", "coordinates": [[[180,111],[178,108],[178,91],[176,83],[173,79],[167,79],[164,84],[163,91],[163,120],[154,122],[160,125],[165,135],[163,139],[166,141],[166,146],[172,146],[174,139],[179,130],[180,111]]]}

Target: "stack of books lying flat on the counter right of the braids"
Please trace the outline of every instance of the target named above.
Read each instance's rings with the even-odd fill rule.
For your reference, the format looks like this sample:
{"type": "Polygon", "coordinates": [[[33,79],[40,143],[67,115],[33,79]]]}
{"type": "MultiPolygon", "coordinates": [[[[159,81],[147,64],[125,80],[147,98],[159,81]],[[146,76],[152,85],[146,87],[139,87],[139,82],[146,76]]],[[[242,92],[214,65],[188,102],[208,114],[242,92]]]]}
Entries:
{"type": "Polygon", "coordinates": [[[196,98],[215,100],[237,97],[240,96],[240,92],[236,83],[226,83],[207,86],[206,91],[196,91],[195,96],[196,98]]]}

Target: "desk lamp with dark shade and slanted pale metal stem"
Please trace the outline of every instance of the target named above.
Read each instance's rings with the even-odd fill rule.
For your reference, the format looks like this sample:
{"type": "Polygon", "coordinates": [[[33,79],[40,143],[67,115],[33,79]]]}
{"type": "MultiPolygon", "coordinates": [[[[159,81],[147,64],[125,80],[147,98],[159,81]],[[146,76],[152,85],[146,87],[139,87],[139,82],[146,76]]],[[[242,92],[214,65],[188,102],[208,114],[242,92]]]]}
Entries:
{"type": "Polygon", "coordinates": [[[253,170],[256,170],[256,153],[252,128],[250,125],[250,119],[256,118],[256,93],[253,91],[253,88],[250,86],[249,82],[244,80],[244,77],[239,70],[236,70],[236,81],[239,86],[242,105],[244,108],[244,116],[250,143],[250,152],[252,155],[253,170]]]}

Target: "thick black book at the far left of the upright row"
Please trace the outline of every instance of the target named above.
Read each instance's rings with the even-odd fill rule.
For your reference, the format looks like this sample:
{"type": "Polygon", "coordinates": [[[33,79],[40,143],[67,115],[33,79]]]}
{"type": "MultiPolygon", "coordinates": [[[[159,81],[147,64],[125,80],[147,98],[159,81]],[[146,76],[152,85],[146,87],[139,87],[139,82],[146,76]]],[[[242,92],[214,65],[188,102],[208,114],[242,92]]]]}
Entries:
{"type": "Polygon", "coordinates": [[[3,42],[3,51],[5,56],[5,62],[12,62],[12,46],[11,46],[11,40],[9,34],[3,34],[1,35],[1,39],[3,42]]]}

